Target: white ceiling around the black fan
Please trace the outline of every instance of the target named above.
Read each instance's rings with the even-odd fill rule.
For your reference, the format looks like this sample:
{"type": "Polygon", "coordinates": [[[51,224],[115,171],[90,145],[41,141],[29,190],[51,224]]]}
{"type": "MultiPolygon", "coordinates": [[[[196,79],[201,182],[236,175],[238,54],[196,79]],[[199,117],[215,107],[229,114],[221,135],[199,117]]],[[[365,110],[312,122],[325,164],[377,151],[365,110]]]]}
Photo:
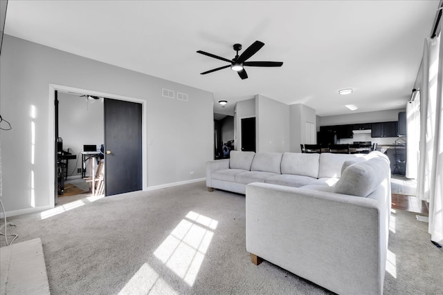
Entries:
{"type": "Polygon", "coordinates": [[[228,100],[216,113],[261,94],[340,115],[405,107],[438,3],[10,0],[5,34],[213,92],[228,100]],[[266,45],[249,61],[283,66],[199,74],[226,62],[197,50],[232,59],[255,40],[266,45]]]}

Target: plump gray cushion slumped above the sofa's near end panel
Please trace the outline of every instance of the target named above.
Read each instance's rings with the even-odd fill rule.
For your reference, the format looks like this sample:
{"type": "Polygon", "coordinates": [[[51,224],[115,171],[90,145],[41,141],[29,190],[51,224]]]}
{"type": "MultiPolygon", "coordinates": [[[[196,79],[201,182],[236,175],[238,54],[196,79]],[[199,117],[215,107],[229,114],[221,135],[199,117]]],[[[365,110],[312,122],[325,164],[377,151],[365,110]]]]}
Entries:
{"type": "Polygon", "coordinates": [[[385,181],[388,183],[390,166],[383,158],[370,158],[348,166],[341,175],[340,180],[334,187],[334,193],[359,196],[366,198],[379,185],[385,181]]]}

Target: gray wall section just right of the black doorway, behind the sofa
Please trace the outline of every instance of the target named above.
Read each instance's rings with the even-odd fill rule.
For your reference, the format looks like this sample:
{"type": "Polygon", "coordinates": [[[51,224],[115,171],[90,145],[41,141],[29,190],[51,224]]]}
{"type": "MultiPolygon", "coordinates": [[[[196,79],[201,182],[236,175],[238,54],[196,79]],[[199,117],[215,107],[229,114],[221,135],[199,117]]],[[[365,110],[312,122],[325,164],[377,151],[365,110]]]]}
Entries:
{"type": "Polygon", "coordinates": [[[256,95],[255,112],[257,152],[289,151],[289,106],[263,95],[256,95]]]}

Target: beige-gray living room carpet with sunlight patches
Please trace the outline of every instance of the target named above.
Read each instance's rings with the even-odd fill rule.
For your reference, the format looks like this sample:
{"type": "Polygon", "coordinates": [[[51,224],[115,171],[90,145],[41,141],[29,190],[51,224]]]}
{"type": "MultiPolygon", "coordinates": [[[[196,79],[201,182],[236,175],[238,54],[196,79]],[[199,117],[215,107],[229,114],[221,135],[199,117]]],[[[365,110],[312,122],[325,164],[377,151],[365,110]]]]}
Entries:
{"type": "MultiPolygon", "coordinates": [[[[443,253],[427,224],[415,213],[392,217],[384,294],[443,294],[443,253]]],[[[245,197],[209,193],[204,182],[76,199],[9,221],[17,242],[42,239],[51,294],[330,294],[266,261],[253,265],[245,197]]]]}

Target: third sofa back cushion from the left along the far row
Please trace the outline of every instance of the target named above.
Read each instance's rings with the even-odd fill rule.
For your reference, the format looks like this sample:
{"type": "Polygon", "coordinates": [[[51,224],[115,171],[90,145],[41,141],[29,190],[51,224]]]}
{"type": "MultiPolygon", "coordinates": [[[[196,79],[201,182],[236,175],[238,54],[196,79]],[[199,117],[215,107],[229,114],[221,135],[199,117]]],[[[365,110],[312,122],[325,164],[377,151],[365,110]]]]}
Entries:
{"type": "Polygon", "coordinates": [[[282,157],[282,174],[318,176],[319,153],[284,153],[282,157]]]}

